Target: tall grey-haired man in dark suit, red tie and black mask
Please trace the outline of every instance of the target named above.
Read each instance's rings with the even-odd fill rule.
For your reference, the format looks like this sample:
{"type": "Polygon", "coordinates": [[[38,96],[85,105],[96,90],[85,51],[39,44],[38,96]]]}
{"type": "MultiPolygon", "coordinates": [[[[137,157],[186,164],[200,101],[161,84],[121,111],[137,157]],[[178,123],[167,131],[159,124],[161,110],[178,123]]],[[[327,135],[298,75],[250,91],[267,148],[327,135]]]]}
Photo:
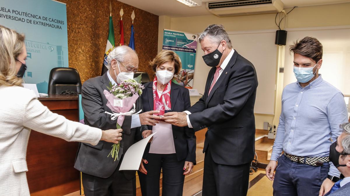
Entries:
{"type": "Polygon", "coordinates": [[[222,25],[210,25],[199,42],[204,62],[213,67],[204,95],[188,111],[166,113],[163,119],[195,131],[208,128],[203,149],[203,196],[246,195],[254,158],[255,68],[232,49],[222,25]]]}

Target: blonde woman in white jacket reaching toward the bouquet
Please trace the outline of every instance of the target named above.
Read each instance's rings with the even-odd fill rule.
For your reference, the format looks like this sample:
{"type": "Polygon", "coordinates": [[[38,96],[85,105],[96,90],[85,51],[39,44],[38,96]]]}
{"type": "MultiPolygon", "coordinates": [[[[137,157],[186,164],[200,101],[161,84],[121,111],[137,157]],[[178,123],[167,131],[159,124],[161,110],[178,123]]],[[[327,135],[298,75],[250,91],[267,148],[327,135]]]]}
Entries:
{"type": "Polygon", "coordinates": [[[118,143],[121,129],[102,131],[54,114],[22,88],[24,35],[0,25],[0,195],[29,195],[26,154],[30,130],[66,141],[118,143]]]}

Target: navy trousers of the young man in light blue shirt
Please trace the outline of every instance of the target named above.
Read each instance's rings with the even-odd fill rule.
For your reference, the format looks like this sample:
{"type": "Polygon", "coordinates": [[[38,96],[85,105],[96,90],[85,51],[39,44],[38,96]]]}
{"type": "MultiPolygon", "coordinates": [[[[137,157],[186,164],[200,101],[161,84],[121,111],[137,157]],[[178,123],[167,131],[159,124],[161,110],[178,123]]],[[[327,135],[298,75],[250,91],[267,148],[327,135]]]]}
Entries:
{"type": "Polygon", "coordinates": [[[282,154],[273,181],[273,195],[317,196],[328,172],[329,163],[312,166],[293,162],[282,154]]]}

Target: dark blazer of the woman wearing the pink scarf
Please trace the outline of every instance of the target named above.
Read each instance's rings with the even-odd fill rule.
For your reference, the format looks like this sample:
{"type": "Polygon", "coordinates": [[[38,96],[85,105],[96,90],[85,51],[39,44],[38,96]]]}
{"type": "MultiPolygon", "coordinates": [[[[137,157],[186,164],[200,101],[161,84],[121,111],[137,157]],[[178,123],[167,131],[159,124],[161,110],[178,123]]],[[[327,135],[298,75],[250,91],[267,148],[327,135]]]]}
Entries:
{"type": "MultiPolygon", "coordinates": [[[[153,81],[144,84],[145,89],[141,95],[144,112],[153,110],[153,81]]],[[[191,106],[190,95],[188,89],[172,82],[170,91],[170,101],[172,112],[183,112],[191,106]]],[[[148,129],[152,130],[153,126],[148,125],[148,129]]],[[[196,136],[193,129],[186,127],[178,127],[172,125],[173,138],[177,160],[183,160],[196,164],[196,136]]],[[[144,158],[147,158],[149,145],[147,146],[144,158]]]]}

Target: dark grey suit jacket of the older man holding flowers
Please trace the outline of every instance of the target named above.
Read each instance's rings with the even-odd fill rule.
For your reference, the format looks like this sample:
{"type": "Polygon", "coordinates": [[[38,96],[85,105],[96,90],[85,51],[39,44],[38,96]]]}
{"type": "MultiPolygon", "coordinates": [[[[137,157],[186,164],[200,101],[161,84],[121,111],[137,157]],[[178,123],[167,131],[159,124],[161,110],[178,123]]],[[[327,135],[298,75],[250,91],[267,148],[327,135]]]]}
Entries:
{"type": "MultiPolygon", "coordinates": [[[[110,114],[105,114],[105,111],[112,113],[110,108],[106,106],[107,99],[103,94],[104,90],[108,90],[110,80],[105,73],[103,76],[91,78],[84,82],[82,87],[82,107],[84,111],[85,125],[100,128],[102,130],[116,129],[117,120],[111,120],[110,114]]],[[[142,109],[141,97],[136,101],[136,110],[142,109]]],[[[87,143],[79,143],[79,149],[75,161],[74,168],[79,171],[97,176],[100,178],[108,178],[116,170],[119,162],[122,159],[122,153],[125,154],[127,149],[134,144],[135,141],[142,139],[142,131],[147,129],[147,126],[131,129],[131,116],[125,116],[123,126],[124,131],[120,142],[119,160],[114,161],[114,158],[107,157],[112,150],[110,142],[100,141],[96,146],[87,143]]],[[[127,179],[135,177],[135,171],[124,171],[127,179]]]]}

